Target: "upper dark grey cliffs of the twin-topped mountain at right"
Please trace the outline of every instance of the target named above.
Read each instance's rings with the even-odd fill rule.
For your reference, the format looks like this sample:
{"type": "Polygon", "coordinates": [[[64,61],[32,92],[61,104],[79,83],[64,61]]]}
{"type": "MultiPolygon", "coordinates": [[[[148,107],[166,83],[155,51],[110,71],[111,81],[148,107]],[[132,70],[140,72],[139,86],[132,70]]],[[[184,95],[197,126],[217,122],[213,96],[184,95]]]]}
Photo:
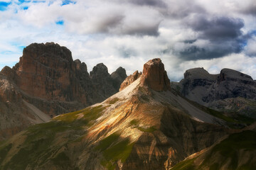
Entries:
{"type": "Polygon", "coordinates": [[[206,103],[236,97],[256,100],[256,81],[233,69],[222,69],[220,74],[209,74],[203,68],[188,69],[180,84],[184,96],[206,103]]]}

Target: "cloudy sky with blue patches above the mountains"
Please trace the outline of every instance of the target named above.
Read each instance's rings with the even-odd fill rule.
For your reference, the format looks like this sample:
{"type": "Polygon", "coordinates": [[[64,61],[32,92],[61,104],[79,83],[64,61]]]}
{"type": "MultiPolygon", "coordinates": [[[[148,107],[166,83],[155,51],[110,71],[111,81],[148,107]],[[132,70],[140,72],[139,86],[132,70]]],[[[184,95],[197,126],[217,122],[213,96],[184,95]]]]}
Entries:
{"type": "Polygon", "coordinates": [[[0,0],[0,69],[33,42],[68,47],[88,72],[127,75],[161,58],[171,81],[186,69],[235,69],[256,79],[255,0],[0,0]]]}

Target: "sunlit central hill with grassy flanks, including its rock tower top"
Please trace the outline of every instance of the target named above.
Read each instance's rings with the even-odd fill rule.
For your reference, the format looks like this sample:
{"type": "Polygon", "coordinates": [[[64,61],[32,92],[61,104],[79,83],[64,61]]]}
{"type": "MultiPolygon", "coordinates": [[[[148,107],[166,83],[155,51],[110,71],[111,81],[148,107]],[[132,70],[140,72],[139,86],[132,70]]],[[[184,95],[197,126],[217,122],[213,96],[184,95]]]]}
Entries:
{"type": "Polygon", "coordinates": [[[102,103],[3,142],[1,169],[169,169],[231,132],[170,91],[161,60],[135,75],[102,103]]]}

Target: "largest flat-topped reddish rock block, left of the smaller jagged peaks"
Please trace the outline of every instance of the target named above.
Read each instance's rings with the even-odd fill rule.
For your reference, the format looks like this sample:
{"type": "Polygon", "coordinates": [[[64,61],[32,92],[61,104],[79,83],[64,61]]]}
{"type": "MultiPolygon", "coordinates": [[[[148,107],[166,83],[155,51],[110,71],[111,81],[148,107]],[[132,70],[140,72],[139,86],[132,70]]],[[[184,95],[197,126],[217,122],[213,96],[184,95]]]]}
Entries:
{"type": "MultiPolygon", "coordinates": [[[[87,103],[70,50],[53,42],[24,48],[16,64],[16,84],[26,94],[58,101],[87,103]]],[[[86,72],[86,70],[85,70],[86,72]]]]}

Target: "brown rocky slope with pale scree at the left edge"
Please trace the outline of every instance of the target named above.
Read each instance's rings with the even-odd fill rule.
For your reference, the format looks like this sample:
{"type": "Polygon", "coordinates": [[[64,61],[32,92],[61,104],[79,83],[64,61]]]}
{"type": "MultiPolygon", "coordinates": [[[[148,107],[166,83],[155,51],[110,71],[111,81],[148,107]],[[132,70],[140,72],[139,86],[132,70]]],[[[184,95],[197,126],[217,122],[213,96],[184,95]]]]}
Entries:
{"type": "MultiPolygon", "coordinates": [[[[11,68],[3,69],[4,72],[8,70],[10,71],[11,68]]],[[[13,72],[6,73],[9,73],[9,76],[13,74],[13,72]]],[[[5,140],[30,125],[45,123],[48,120],[50,120],[49,115],[27,106],[21,90],[13,81],[0,73],[0,140],[5,140]]]]}

